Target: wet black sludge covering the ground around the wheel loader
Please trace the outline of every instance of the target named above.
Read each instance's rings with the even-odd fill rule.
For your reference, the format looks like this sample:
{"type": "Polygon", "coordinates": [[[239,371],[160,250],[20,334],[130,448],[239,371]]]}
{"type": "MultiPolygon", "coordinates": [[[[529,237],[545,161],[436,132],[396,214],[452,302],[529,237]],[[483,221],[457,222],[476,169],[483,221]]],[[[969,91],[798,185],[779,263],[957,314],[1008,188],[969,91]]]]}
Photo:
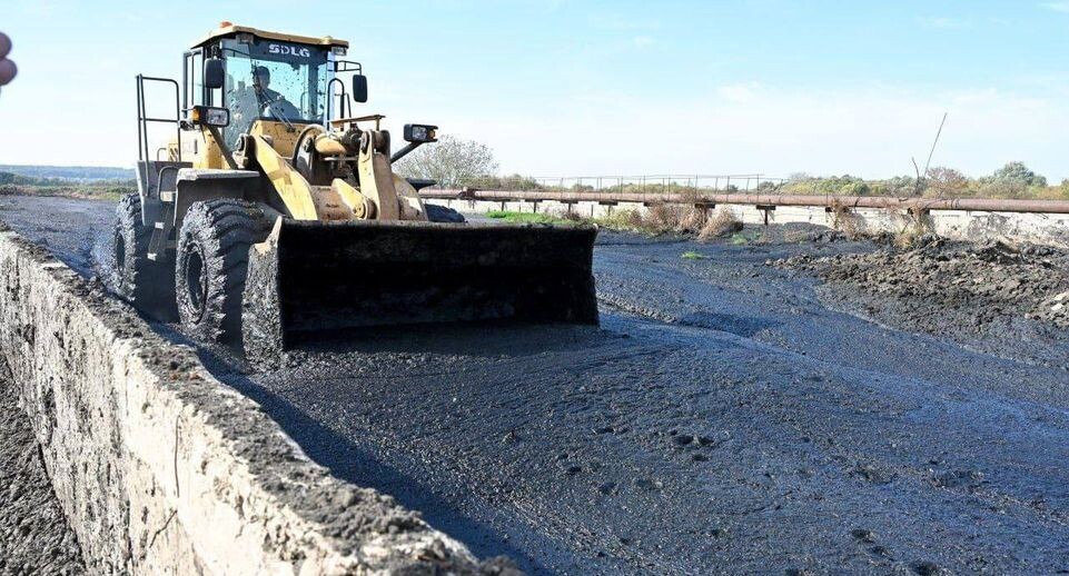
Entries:
{"type": "Polygon", "coordinates": [[[1067,345],[860,314],[864,285],[766,262],[880,247],[795,228],[603,234],[600,328],[369,331],[270,374],[202,355],[335,475],[536,574],[1069,570],[1069,371],[1036,361],[1067,345]]]}

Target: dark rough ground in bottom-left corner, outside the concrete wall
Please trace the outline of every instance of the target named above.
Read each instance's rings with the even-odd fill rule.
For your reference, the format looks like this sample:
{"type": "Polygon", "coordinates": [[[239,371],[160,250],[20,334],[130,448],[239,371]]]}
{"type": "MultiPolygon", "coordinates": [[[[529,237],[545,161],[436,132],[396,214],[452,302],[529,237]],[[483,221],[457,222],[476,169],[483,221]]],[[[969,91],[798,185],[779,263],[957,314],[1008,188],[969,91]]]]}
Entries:
{"type": "Polygon", "coordinates": [[[26,414],[0,365],[0,574],[85,574],[26,414]]]}

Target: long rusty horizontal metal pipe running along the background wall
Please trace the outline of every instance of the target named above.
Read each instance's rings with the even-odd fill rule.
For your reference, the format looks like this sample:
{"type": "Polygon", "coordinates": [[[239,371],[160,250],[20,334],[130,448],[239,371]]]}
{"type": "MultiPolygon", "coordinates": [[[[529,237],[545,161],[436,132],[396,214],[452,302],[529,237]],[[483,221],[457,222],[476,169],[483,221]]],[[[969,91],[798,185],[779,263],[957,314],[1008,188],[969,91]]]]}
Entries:
{"type": "Polygon", "coordinates": [[[494,202],[633,202],[707,203],[749,206],[799,206],[815,208],[889,208],[911,211],[968,210],[986,212],[1069,213],[1067,200],[1009,200],[991,198],[890,198],[882,196],[788,196],[765,193],[634,193],[634,192],[548,192],[505,190],[420,190],[419,196],[442,200],[486,200],[494,202]]]}

